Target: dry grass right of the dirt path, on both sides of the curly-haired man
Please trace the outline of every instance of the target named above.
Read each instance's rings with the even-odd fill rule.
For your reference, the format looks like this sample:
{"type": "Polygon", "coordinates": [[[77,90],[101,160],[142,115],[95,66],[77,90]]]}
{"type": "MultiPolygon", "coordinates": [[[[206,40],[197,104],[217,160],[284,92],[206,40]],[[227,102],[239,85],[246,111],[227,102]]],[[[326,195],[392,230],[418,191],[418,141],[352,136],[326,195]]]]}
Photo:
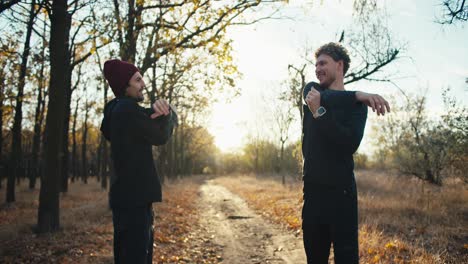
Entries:
{"type": "MultiPolygon", "coordinates": [[[[376,171],[356,173],[362,263],[468,263],[468,190],[376,171]]],[[[300,232],[302,183],[271,178],[217,179],[267,219],[300,232]]]]}

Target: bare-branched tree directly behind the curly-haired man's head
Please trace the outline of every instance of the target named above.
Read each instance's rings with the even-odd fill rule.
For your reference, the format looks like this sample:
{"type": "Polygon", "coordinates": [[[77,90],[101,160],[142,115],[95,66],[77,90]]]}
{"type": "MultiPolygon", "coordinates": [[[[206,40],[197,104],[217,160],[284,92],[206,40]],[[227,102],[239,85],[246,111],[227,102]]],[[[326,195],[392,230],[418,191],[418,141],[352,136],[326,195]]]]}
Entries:
{"type": "MultiPolygon", "coordinates": [[[[355,22],[348,30],[338,36],[350,53],[352,67],[344,76],[344,83],[350,84],[361,80],[393,83],[397,76],[385,71],[388,65],[395,63],[405,51],[405,44],[394,39],[386,26],[386,17],[377,3],[365,0],[355,1],[355,22]]],[[[303,117],[303,94],[308,73],[314,65],[313,53],[306,47],[302,63],[288,65],[289,90],[283,92],[281,99],[291,102],[303,117]]]]}

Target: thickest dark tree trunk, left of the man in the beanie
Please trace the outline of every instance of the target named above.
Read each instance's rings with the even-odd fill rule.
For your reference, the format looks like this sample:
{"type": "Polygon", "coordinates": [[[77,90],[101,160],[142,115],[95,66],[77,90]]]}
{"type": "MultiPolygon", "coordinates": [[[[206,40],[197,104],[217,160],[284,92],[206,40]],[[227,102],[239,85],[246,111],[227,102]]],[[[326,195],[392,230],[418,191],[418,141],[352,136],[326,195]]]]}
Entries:
{"type": "Polygon", "coordinates": [[[45,130],[45,173],[39,194],[37,231],[53,232],[60,228],[60,161],[65,111],[65,69],[70,65],[68,50],[71,15],[67,0],[54,0],[50,14],[50,85],[45,130]]]}

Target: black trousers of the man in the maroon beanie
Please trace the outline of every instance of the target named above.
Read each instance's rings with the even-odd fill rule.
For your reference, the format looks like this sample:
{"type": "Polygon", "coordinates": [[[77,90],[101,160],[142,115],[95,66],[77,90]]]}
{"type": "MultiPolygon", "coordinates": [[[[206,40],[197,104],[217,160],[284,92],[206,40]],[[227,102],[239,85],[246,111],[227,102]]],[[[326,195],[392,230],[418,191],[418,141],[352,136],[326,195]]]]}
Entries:
{"type": "Polygon", "coordinates": [[[114,223],[114,262],[147,264],[153,259],[152,205],[112,208],[114,223]]]}

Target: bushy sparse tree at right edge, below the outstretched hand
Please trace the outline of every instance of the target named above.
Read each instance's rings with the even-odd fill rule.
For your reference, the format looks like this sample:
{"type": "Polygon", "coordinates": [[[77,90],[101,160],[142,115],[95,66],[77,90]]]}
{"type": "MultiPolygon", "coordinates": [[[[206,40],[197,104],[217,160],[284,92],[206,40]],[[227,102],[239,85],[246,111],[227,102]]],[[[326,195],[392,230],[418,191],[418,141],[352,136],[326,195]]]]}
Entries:
{"type": "Polygon", "coordinates": [[[468,109],[457,105],[445,90],[446,113],[442,120],[433,120],[426,111],[426,93],[402,94],[403,103],[394,107],[396,116],[389,115],[384,125],[374,127],[379,153],[400,172],[432,184],[442,185],[451,168],[466,180],[468,109]]]}

